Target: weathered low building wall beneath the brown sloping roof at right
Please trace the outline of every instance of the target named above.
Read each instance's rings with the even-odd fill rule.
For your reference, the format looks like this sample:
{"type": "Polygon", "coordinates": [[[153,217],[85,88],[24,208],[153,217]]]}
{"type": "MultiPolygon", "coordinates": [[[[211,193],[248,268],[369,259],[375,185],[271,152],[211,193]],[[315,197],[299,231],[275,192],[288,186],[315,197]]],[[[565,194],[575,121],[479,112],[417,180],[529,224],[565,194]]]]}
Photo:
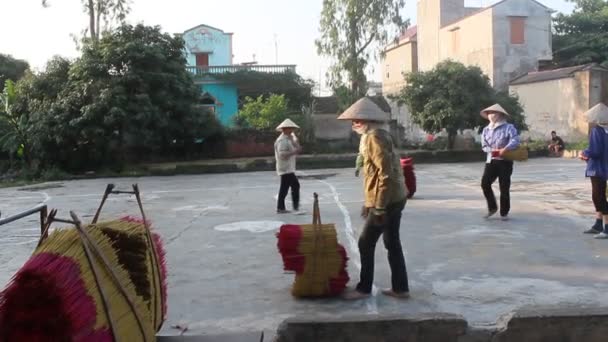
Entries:
{"type": "Polygon", "coordinates": [[[532,139],[549,139],[551,131],[567,142],[586,138],[588,125],[583,114],[590,108],[588,71],[558,80],[512,85],[509,90],[524,107],[532,139]]]}

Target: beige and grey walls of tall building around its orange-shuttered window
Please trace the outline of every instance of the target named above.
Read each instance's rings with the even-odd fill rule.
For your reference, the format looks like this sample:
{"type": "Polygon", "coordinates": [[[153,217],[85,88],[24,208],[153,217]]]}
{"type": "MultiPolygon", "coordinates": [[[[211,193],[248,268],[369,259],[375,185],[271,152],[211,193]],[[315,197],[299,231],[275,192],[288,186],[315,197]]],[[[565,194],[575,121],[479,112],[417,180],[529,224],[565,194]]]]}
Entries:
{"type": "Polygon", "coordinates": [[[506,0],[476,11],[463,0],[419,0],[417,15],[421,71],[452,59],[479,66],[495,88],[506,90],[510,80],[552,58],[551,12],[536,1],[506,0]],[[524,21],[523,43],[513,43],[513,18],[524,21]]]}

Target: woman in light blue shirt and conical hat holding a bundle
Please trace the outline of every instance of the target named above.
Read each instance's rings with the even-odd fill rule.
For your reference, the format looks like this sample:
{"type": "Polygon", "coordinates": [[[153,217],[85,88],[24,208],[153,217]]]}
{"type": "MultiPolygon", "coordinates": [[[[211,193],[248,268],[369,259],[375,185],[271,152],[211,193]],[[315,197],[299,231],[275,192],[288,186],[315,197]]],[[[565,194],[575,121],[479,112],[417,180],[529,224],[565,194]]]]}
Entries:
{"type": "Polygon", "coordinates": [[[513,174],[513,161],[503,158],[508,150],[519,147],[519,134],[515,126],[507,122],[509,113],[500,104],[492,105],[481,111],[480,115],[490,121],[481,133],[482,150],[486,152],[486,166],[481,178],[481,189],[486,198],[488,213],[486,218],[498,212],[496,197],[492,191],[492,184],[498,178],[500,185],[500,218],[508,220],[511,209],[511,174],[513,174]]]}

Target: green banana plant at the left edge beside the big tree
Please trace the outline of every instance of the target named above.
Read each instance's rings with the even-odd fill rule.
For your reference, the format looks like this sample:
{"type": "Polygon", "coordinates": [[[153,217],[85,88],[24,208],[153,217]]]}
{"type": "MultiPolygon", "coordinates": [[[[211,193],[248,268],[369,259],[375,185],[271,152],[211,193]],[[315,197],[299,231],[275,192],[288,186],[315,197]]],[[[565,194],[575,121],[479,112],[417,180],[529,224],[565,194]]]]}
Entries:
{"type": "Polygon", "coordinates": [[[17,97],[15,83],[7,80],[0,94],[0,149],[29,161],[28,117],[13,111],[17,97]]]}

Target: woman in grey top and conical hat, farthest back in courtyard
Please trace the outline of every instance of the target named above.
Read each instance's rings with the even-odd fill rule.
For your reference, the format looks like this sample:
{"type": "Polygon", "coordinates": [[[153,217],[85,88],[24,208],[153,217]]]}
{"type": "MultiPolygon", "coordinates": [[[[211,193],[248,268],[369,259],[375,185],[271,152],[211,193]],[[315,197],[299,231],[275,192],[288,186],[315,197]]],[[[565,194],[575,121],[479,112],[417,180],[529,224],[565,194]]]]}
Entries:
{"type": "Polygon", "coordinates": [[[279,196],[277,199],[277,213],[289,213],[285,208],[285,198],[291,189],[291,201],[293,209],[297,212],[300,209],[300,182],[296,177],[296,156],[302,151],[302,147],[295,135],[295,130],[300,127],[290,119],[285,119],[277,126],[276,130],[281,135],[274,143],[274,157],[276,160],[277,174],[281,177],[279,196]]]}

